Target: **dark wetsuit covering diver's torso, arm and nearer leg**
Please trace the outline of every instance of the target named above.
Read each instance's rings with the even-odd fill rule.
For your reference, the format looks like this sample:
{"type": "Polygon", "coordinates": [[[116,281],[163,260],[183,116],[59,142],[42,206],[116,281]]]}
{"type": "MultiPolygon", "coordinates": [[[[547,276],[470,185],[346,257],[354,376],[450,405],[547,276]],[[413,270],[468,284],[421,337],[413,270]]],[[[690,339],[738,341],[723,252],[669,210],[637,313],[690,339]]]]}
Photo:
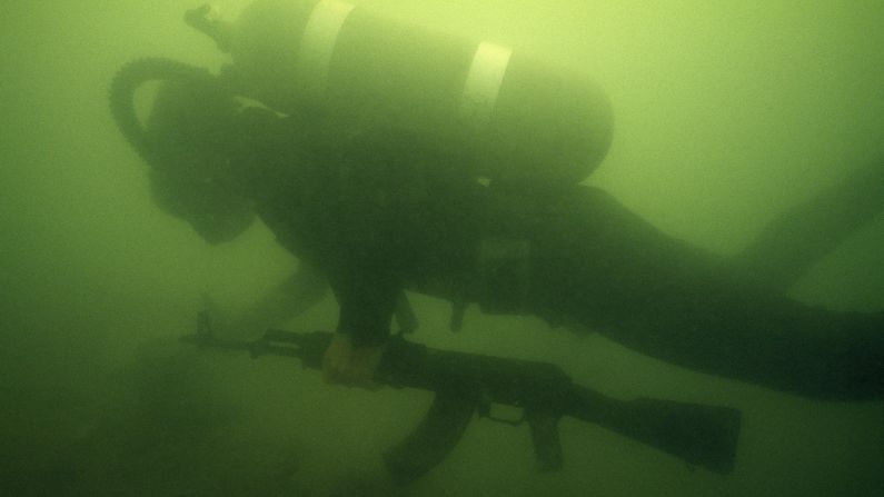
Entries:
{"type": "Polygon", "coordinates": [[[405,288],[592,329],[675,365],[799,395],[884,396],[884,315],[825,310],[748,284],[599,189],[488,188],[444,172],[456,157],[429,160],[377,140],[339,149],[289,125],[262,126],[249,127],[264,138],[244,159],[259,213],[325,272],[338,331],[358,345],[386,339],[405,288]],[[487,240],[528,247],[528,275],[515,278],[524,294],[509,287],[509,262],[500,281],[477,268],[487,240]]]}

